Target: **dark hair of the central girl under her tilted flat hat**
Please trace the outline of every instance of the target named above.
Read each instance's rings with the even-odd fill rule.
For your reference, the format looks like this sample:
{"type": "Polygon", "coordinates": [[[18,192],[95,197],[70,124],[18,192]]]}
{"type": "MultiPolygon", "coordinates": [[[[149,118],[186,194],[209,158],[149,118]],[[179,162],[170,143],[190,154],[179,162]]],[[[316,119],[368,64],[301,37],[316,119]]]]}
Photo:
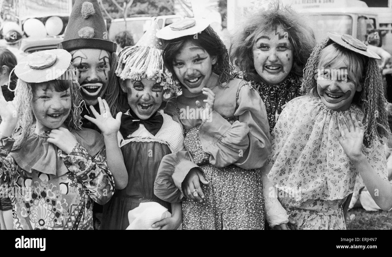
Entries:
{"type": "Polygon", "coordinates": [[[232,78],[232,65],[230,63],[227,48],[214,29],[212,29],[211,26],[208,26],[196,35],[163,40],[163,63],[175,79],[178,80],[173,69],[173,61],[186,42],[191,42],[192,44],[203,48],[210,56],[218,57],[216,64],[212,66],[212,72],[219,75],[219,81],[221,83],[228,82],[232,78]]]}

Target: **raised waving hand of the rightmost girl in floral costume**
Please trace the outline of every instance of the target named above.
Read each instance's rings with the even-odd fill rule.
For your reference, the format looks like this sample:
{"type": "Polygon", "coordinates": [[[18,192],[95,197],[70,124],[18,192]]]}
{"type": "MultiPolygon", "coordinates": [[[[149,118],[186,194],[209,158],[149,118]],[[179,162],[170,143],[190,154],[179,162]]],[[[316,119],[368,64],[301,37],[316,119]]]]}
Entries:
{"type": "Polygon", "coordinates": [[[343,147],[348,159],[350,160],[358,160],[362,157],[362,142],[363,135],[365,133],[365,126],[363,126],[362,122],[358,121],[356,117],[350,117],[350,115],[346,115],[347,124],[341,118],[342,124],[342,132],[344,137],[342,136],[341,131],[336,130],[336,134],[338,136],[339,143],[343,147]]]}

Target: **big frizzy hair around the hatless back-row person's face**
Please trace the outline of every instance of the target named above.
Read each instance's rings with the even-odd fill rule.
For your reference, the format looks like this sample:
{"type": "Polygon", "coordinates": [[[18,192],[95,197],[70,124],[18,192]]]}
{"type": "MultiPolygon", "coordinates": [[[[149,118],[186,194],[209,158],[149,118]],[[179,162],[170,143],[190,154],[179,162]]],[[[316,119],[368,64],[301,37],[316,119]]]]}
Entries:
{"type": "Polygon", "coordinates": [[[262,31],[272,32],[279,26],[288,33],[293,51],[293,66],[291,73],[302,77],[306,61],[316,45],[314,33],[301,16],[291,7],[274,7],[266,11],[253,12],[243,18],[234,33],[230,46],[232,62],[243,72],[246,80],[260,82],[260,76],[254,68],[253,45],[256,36],[262,31]]]}

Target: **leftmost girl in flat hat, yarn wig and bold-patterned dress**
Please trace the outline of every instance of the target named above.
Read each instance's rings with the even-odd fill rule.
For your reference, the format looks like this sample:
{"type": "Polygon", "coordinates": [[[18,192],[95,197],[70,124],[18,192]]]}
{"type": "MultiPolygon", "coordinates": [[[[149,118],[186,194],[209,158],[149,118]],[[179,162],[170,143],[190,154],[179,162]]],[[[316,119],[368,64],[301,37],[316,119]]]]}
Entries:
{"type": "Polygon", "coordinates": [[[10,196],[14,229],[93,229],[93,200],[107,202],[114,181],[102,135],[80,127],[71,55],[32,53],[15,74],[14,101],[0,95],[0,184],[2,193],[18,193],[10,196]],[[11,138],[15,128],[20,134],[11,138]]]}

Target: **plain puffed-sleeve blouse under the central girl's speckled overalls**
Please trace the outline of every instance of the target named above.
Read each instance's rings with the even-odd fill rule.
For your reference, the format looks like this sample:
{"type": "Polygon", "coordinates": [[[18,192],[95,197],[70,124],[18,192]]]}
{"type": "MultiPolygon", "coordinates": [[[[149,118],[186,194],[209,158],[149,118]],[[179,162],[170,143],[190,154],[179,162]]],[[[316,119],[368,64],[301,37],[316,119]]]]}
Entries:
{"type": "MultiPolygon", "coordinates": [[[[240,79],[223,85],[218,83],[211,89],[215,94],[211,122],[181,115],[188,103],[195,102],[195,98],[190,97],[171,98],[165,113],[179,122],[185,131],[200,126],[201,147],[213,166],[221,168],[235,164],[245,170],[261,168],[270,154],[270,135],[267,113],[258,92],[249,82],[240,79]],[[230,123],[228,120],[233,118],[236,121],[230,123]]],[[[166,155],[155,181],[155,194],[167,202],[181,201],[181,183],[196,167],[198,165],[188,151],[166,155]],[[164,179],[169,175],[175,186],[164,179]]]]}

